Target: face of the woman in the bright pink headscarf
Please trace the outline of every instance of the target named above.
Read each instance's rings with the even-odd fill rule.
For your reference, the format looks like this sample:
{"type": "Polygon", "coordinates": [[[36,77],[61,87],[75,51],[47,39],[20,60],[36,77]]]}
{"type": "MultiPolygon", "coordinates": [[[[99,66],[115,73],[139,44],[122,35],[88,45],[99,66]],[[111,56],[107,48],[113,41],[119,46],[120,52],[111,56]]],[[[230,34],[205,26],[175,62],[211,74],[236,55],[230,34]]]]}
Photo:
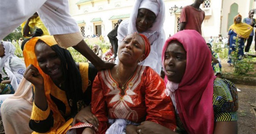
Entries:
{"type": "Polygon", "coordinates": [[[164,68],[169,81],[180,83],[186,70],[186,51],[177,40],[169,43],[165,52],[164,68]]]}

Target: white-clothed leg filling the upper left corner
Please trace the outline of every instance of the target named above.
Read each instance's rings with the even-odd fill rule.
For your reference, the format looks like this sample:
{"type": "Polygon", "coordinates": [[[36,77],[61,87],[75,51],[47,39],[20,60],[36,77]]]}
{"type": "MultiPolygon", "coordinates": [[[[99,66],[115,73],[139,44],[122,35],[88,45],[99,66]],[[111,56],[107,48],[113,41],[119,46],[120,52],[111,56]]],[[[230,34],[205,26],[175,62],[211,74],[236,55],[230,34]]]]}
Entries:
{"type": "Polygon", "coordinates": [[[47,0],[1,0],[0,40],[31,17],[47,0]]]}

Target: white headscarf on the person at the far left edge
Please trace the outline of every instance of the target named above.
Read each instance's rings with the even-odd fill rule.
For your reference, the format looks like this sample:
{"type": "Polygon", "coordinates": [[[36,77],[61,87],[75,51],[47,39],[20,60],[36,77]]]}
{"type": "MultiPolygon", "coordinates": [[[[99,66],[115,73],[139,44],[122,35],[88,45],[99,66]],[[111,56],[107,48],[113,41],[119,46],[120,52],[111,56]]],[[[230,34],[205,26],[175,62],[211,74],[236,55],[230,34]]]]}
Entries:
{"type": "Polygon", "coordinates": [[[3,56],[0,60],[0,72],[2,72],[3,68],[5,69],[8,77],[11,80],[11,85],[14,90],[17,90],[18,84],[23,78],[23,73],[26,69],[25,64],[20,60],[19,57],[14,55],[15,46],[12,45],[11,42],[3,42],[3,48],[5,56],[3,56]],[[10,66],[12,65],[12,66],[10,66]]]}

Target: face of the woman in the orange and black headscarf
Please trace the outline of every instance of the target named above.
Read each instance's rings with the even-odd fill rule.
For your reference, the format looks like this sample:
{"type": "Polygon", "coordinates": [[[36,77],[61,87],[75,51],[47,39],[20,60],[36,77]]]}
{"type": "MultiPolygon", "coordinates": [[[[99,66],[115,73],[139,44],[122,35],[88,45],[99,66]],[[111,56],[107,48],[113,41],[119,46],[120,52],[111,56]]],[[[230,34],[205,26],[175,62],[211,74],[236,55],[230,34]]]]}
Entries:
{"type": "Polygon", "coordinates": [[[45,74],[49,75],[52,80],[63,79],[61,60],[50,46],[45,43],[37,43],[35,45],[35,55],[39,67],[45,74]]]}

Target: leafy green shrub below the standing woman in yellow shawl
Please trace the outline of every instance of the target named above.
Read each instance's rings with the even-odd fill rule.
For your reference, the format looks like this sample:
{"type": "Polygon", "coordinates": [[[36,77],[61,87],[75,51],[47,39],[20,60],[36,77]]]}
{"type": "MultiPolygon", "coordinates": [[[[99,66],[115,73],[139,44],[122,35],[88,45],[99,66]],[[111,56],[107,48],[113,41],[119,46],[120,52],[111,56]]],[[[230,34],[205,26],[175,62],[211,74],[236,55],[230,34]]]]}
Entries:
{"type": "Polygon", "coordinates": [[[236,38],[236,51],[233,51],[231,53],[231,60],[235,67],[234,74],[235,75],[246,75],[251,71],[254,71],[254,64],[252,64],[252,57],[247,56],[247,58],[241,57],[240,54],[238,54],[239,48],[239,38],[236,38]]]}

